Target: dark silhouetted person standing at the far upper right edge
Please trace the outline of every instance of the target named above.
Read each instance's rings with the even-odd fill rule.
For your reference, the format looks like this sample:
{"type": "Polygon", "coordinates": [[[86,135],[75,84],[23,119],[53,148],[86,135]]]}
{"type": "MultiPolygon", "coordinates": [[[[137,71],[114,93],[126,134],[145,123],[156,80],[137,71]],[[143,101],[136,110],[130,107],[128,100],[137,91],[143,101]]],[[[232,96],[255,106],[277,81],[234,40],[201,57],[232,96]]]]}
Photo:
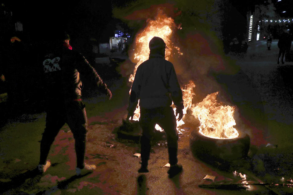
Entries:
{"type": "Polygon", "coordinates": [[[280,64],[280,57],[281,57],[282,64],[285,63],[284,56],[285,54],[290,55],[291,42],[292,42],[292,38],[291,38],[291,35],[289,34],[289,31],[284,30],[278,41],[278,48],[280,49],[280,51],[278,55],[277,64],[280,64]]]}

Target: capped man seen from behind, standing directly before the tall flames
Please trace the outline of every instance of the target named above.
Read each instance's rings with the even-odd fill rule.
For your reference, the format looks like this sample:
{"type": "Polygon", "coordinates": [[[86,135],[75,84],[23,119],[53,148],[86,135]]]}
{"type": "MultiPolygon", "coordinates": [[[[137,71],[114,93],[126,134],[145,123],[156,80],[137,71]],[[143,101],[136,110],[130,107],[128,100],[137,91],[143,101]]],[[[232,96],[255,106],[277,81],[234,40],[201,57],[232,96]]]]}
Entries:
{"type": "Polygon", "coordinates": [[[155,125],[161,126],[167,136],[170,169],[169,177],[182,171],[177,165],[178,133],[172,101],[176,106],[178,120],[183,117],[183,99],[173,64],[165,60],[166,44],[160,37],[154,37],[149,43],[149,59],[137,68],[128,100],[127,119],[133,118],[139,100],[139,123],[143,130],[141,143],[141,168],[138,172],[149,172],[147,169],[150,157],[151,142],[155,125]]]}

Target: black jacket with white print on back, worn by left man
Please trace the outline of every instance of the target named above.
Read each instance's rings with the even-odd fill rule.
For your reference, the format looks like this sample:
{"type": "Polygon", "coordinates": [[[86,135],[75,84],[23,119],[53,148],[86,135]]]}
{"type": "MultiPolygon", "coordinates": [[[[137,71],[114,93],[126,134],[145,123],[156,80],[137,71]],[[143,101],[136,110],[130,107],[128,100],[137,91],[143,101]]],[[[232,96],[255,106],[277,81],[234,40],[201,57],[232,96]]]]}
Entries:
{"type": "Polygon", "coordinates": [[[49,47],[41,56],[45,99],[47,101],[72,101],[81,98],[82,82],[80,73],[96,83],[107,94],[107,85],[96,70],[80,53],[70,50],[62,44],[49,47]]]}

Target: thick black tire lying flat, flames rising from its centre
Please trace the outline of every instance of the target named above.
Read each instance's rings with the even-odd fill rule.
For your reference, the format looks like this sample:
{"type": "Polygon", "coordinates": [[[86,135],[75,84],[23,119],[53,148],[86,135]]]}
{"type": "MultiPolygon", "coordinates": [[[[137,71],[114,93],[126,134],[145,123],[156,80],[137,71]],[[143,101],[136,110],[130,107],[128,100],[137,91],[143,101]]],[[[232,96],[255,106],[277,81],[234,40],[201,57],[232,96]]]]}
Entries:
{"type": "Polygon", "coordinates": [[[194,156],[205,160],[233,161],[244,158],[250,147],[250,137],[238,132],[233,139],[215,139],[203,136],[199,128],[190,133],[190,150],[194,156]]]}

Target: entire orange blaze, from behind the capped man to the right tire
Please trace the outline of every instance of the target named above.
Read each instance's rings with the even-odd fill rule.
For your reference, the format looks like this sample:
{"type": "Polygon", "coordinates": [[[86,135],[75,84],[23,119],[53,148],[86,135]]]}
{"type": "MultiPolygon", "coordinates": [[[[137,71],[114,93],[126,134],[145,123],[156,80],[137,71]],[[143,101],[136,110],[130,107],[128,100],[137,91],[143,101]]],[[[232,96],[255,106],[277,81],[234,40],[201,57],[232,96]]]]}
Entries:
{"type": "MultiPolygon", "coordinates": [[[[172,54],[175,52],[179,56],[183,55],[180,52],[179,47],[175,47],[171,42],[171,37],[176,29],[181,29],[181,27],[176,26],[174,20],[167,17],[160,9],[154,20],[148,19],[147,26],[136,35],[135,48],[136,52],[134,54],[133,61],[137,61],[134,68],[133,74],[130,75],[129,82],[133,82],[137,67],[149,58],[149,42],[154,37],[161,37],[167,47],[165,53],[165,59],[168,60],[172,54]]],[[[181,87],[183,92],[184,109],[183,114],[186,114],[187,110],[198,118],[201,122],[200,133],[207,137],[217,138],[217,139],[229,139],[238,137],[238,132],[234,125],[236,125],[233,119],[234,107],[222,106],[216,101],[216,96],[219,92],[209,94],[204,100],[197,105],[192,104],[192,98],[195,95],[193,88],[195,87],[194,82],[190,81],[184,87],[181,87]]],[[[130,92],[129,92],[130,93],[130,92]]],[[[175,105],[172,104],[172,108],[175,111],[175,105]]],[[[137,105],[134,112],[133,120],[139,120],[140,109],[137,105]]],[[[183,116],[184,119],[184,116],[183,116]]],[[[180,126],[184,124],[183,120],[177,122],[177,130],[180,126]]],[[[156,124],[155,128],[162,131],[161,127],[156,124]]]]}

